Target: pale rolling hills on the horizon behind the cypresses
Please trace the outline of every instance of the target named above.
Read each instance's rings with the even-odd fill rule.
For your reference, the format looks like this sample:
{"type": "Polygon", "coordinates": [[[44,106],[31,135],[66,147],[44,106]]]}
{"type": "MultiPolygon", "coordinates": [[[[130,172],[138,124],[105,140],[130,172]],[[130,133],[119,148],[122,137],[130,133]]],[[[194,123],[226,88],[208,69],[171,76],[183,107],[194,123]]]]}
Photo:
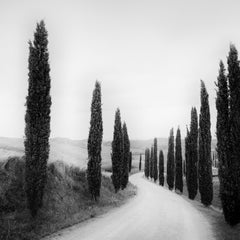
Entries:
{"type": "MultiPolygon", "coordinates": [[[[131,140],[131,151],[133,153],[133,165],[137,166],[139,155],[144,154],[147,147],[151,147],[153,139],[149,140],[131,140]]],[[[158,138],[158,149],[163,150],[165,160],[167,157],[167,138],[158,138]]],[[[212,141],[212,151],[216,147],[216,140],[212,141]]],[[[182,141],[182,150],[184,158],[184,141],[182,141]]],[[[22,156],[24,154],[23,139],[0,137],[0,160],[7,159],[10,156],[22,156]]],[[[85,168],[87,166],[87,140],[71,140],[68,138],[50,139],[50,157],[49,162],[61,160],[70,165],[85,168]]],[[[102,166],[111,165],[111,142],[104,141],[102,145],[102,166]]]]}

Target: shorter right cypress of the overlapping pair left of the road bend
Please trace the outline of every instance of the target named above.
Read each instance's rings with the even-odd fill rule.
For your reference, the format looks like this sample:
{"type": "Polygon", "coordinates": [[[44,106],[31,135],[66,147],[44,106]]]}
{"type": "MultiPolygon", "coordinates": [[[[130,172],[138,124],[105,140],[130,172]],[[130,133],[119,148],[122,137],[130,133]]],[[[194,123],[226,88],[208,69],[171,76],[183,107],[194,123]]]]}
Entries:
{"type": "Polygon", "coordinates": [[[130,158],[130,141],[127,132],[127,125],[123,123],[123,159],[122,159],[122,173],[121,173],[121,188],[124,189],[128,184],[129,173],[129,158],[130,158]]]}

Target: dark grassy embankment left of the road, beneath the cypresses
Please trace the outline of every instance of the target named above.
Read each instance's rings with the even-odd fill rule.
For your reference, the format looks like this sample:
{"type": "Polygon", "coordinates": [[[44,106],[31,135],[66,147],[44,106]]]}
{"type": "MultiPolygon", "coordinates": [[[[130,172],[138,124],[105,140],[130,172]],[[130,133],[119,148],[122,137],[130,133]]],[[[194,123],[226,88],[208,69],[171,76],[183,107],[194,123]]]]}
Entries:
{"type": "Polygon", "coordinates": [[[120,206],[136,194],[132,184],[115,194],[111,179],[103,176],[96,203],[88,193],[85,171],[55,162],[48,166],[43,208],[32,219],[24,191],[24,161],[11,158],[0,164],[0,239],[40,239],[120,206]]]}

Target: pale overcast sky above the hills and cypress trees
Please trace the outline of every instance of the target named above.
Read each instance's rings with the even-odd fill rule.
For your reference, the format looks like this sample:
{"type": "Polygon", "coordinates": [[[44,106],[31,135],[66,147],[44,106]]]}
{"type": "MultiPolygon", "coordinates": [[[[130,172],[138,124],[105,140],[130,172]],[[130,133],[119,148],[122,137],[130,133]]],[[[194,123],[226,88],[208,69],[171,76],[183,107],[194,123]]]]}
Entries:
{"type": "Polygon", "coordinates": [[[131,139],[167,137],[209,92],[230,42],[239,48],[237,0],[0,0],[0,136],[24,135],[28,40],[49,32],[52,137],[88,137],[96,79],[102,83],[104,139],[120,107],[131,139]]]}

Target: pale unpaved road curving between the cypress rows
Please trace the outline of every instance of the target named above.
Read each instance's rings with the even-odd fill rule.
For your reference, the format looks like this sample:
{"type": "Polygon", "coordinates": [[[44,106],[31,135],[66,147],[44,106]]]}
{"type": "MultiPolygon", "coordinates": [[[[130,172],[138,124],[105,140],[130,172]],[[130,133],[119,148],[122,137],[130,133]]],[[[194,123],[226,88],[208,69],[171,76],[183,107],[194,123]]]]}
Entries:
{"type": "Polygon", "coordinates": [[[189,202],[144,179],[130,178],[137,196],[118,209],[63,230],[51,240],[213,240],[207,220],[189,202]]]}

